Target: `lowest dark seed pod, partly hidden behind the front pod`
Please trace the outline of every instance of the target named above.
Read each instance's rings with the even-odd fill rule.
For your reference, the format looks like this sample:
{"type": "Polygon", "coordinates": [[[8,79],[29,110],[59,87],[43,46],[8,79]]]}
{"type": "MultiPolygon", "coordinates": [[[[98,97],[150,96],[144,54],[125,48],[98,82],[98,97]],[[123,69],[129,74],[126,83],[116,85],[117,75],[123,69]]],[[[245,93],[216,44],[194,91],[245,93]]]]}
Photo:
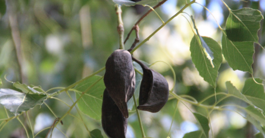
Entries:
{"type": "Polygon", "coordinates": [[[125,138],[127,131],[127,118],[125,118],[118,106],[105,89],[101,109],[101,124],[109,138],[125,138]]]}

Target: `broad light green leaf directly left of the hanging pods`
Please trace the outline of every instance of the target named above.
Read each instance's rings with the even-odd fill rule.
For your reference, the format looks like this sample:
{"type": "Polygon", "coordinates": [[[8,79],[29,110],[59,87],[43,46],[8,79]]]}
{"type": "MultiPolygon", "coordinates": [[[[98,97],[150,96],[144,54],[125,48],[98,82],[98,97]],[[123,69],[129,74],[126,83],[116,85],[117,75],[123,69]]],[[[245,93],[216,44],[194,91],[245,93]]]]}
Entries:
{"type": "Polygon", "coordinates": [[[79,91],[75,93],[76,99],[78,99],[82,92],[91,87],[89,91],[86,92],[86,94],[83,95],[82,98],[77,102],[77,106],[81,112],[95,120],[101,119],[102,95],[105,89],[103,79],[97,82],[100,78],[100,76],[95,75],[83,81],[82,83],[79,83],[74,88],[75,90],[79,91]],[[93,83],[96,84],[93,85],[93,83]]]}

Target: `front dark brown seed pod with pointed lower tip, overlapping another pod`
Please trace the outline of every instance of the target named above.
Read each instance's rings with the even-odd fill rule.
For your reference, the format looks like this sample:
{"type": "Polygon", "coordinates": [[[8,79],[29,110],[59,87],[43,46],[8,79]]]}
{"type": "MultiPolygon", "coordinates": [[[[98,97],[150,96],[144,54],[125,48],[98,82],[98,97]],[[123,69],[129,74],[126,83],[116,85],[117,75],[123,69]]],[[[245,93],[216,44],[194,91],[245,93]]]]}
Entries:
{"type": "Polygon", "coordinates": [[[127,102],[135,89],[135,71],[131,54],[127,50],[115,50],[107,59],[104,83],[110,97],[128,118],[127,102]]]}

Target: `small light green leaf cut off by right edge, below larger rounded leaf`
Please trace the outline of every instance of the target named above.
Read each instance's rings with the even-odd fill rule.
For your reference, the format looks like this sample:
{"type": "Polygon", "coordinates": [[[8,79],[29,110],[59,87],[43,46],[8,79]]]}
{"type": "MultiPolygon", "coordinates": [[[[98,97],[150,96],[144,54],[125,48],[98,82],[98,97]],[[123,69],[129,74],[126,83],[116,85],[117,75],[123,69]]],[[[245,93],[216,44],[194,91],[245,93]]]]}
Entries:
{"type": "Polygon", "coordinates": [[[255,120],[258,120],[262,125],[265,125],[265,116],[263,115],[263,110],[255,106],[248,106],[245,108],[246,112],[255,120]]]}

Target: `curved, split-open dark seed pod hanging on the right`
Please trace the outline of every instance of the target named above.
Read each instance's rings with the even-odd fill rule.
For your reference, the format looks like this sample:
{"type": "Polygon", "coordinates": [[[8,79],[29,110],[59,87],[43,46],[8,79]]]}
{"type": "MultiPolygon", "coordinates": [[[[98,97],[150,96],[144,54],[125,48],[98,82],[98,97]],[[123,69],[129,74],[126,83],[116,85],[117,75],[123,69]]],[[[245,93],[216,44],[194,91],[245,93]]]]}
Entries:
{"type": "Polygon", "coordinates": [[[169,88],[165,77],[133,58],[143,69],[140,85],[139,110],[158,112],[168,100],[169,88]]]}

